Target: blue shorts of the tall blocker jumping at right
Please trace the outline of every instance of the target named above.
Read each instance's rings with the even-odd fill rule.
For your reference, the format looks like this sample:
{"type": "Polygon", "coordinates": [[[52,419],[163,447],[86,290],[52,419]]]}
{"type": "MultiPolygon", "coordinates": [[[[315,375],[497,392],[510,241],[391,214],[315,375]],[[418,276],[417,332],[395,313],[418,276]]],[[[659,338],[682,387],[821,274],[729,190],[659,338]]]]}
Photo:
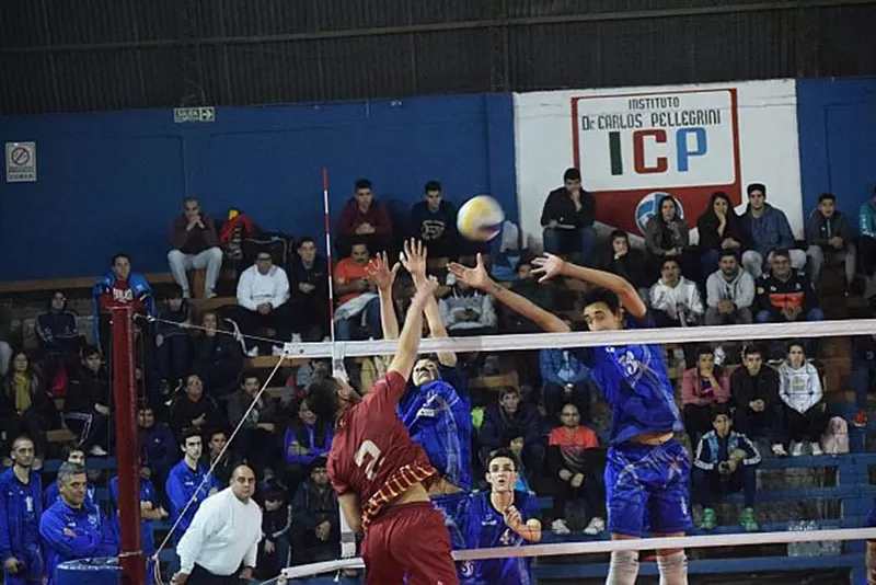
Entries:
{"type": "Polygon", "coordinates": [[[684,532],[691,528],[691,462],[676,439],[662,445],[624,443],[609,448],[606,500],[609,531],[641,537],[645,532],[684,532]]]}

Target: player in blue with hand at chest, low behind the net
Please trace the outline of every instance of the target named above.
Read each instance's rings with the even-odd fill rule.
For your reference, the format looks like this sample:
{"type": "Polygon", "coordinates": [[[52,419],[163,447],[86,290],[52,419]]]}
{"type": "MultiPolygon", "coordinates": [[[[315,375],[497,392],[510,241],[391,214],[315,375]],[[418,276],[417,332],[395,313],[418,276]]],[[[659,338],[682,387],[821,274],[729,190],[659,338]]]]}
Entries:
{"type": "MultiPolygon", "coordinates": [[[[514,489],[517,456],[510,449],[493,451],[486,461],[488,491],[469,496],[461,515],[466,549],[519,547],[541,540],[539,501],[532,492],[514,489]]],[[[531,557],[463,561],[461,585],[530,585],[531,557]]]]}

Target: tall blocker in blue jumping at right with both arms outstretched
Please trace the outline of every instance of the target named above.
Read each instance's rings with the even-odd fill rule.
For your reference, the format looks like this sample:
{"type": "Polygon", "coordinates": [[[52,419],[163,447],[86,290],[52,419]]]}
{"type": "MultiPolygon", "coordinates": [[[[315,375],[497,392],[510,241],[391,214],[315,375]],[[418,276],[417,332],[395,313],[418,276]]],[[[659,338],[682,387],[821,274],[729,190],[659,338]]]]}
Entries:
{"type": "MultiPolygon", "coordinates": [[[[564,262],[553,254],[535,259],[541,280],[565,276],[595,288],[586,295],[584,319],[590,331],[653,326],[636,289],[624,278],[564,262]]],[[[475,267],[450,264],[449,271],[466,285],[493,295],[508,308],[538,323],[544,331],[569,331],[558,317],[494,283],[481,257],[475,267]]],[[[675,439],[682,429],[675,391],[659,345],[630,344],[592,347],[592,377],[612,409],[611,447],[606,466],[606,495],[612,539],[683,536],[691,526],[689,506],[690,458],[675,439]]],[[[684,551],[657,551],[661,585],[685,585],[684,551]]],[[[638,575],[638,553],[611,554],[607,585],[633,585],[638,575]]]]}

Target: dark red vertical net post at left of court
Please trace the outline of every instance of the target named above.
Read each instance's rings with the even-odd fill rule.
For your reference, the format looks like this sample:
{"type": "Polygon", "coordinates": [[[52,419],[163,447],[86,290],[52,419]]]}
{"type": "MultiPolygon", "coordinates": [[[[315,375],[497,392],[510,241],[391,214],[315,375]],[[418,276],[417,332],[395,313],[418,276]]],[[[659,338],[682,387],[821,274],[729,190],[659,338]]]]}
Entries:
{"type": "Polygon", "coordinates": [[[134,308],[113,307],[111,311],[113,402],[118,461],[119,564],[125,585],[145,585],[146,565],[140,549],[140,454],[137,445],[134,308]]]}

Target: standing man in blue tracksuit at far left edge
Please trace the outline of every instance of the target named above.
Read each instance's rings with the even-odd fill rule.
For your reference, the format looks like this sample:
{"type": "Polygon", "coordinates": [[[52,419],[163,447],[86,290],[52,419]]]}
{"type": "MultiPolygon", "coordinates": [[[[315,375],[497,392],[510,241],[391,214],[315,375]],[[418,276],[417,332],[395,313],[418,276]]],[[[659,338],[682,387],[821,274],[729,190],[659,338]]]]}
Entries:
{"type": "Polygon", "coordinates": [[[43,551],[39,516],[43,514],[43,482],[31,470],[34,443],[19,437],[12,444],[10,469],[0,475],[0,561],[3,583],[25,585],[43,582],[43,551]]]}

